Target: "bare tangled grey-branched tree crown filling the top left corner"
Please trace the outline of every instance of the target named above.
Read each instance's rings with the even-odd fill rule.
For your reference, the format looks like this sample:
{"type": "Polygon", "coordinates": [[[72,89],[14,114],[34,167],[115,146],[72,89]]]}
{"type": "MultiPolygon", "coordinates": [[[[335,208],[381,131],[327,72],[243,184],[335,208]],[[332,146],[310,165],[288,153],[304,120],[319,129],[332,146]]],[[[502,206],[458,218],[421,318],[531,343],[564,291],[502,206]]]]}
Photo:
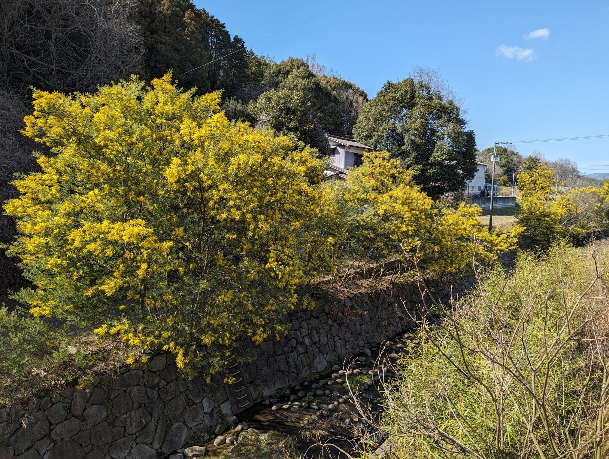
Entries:
{"type": "Polygon", "coordinates": [[[141,71],[134,0],[3,0],[0,85],[93,90],[141,71]]]}

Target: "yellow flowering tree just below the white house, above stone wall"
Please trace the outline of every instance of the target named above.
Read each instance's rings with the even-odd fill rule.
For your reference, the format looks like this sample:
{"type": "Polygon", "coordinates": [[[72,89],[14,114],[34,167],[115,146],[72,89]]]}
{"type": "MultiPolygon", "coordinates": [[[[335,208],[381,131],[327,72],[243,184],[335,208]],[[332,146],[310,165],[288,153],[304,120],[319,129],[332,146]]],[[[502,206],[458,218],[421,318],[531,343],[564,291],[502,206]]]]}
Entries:
{"type": "Polygon", "coordinates": [[[453,209],[433,201],[388,152],[367,153],[345,185],[332,189],[345,207],[345,245],[356,259],[404,257],[403,248],[421,267],[445,274],[470,268],[474,254],[480,262],[492,262],[515,247],[521,232],[516,226],[509,233],[490,233],[476,218],[479,206],[453,209]]]}

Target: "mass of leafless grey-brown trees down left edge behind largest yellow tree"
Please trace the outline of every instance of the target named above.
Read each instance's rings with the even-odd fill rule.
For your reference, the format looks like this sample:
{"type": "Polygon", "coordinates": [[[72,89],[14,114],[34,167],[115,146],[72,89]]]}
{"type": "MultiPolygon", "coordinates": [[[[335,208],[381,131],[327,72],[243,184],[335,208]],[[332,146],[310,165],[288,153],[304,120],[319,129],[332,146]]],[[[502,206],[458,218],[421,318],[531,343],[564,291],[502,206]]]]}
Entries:
{"type": "MultiPolygon", "coordinates": [[[[13,175],[36,168],[31,152],[40,146],[19,133],[31,110],[29,88],[91,91],[141,71],[135,14],[135,0],[0,1],[0,205],[16,196],[13,175]]],[[[14,234],[15,223],[0,212],[0,243],[14,234]]],[[[0,249],[0,301],[23,281],[0,249]]]]}

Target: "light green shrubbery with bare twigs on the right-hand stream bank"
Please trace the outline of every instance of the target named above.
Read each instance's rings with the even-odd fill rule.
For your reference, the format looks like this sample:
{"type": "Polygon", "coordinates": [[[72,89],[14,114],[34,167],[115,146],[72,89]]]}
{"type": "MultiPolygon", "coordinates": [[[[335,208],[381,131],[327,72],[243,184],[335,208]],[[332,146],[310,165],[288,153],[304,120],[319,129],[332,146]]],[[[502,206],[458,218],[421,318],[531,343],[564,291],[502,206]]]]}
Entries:
{"type": "Polygon", "coordinates": [[[523,254],[423,324],[385,385],[396,457],[604,457],[609,245],[523,254]]]}

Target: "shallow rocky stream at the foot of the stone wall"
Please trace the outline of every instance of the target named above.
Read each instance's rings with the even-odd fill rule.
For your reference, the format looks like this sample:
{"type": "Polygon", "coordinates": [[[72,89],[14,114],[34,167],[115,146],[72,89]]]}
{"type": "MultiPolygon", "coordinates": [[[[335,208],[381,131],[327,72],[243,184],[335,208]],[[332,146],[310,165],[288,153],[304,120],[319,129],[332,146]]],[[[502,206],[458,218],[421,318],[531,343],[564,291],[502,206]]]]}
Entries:
{"type": "MultiPolygon", "coordinates": [[[[340,449],[354,452],[357,447],[362,446],[362,442],[370,443],[370,440],[369,447],[373,447],[375,444],[380,446],[381,436],[376,432],[371,432],[369,424],[365,423],[365,428],[362,425],[361,416],[351,399],[348,388],[345,388],[345,380],[350,380],[354,392],[356,388],[351,379],[359,380],[357,399],[361,402],[362,407],[370,410],[371,415],[376,419],[380,418],[382,413],[381,394],[379,393],[380,379],[384,377],[385,380],[388,380],[395,377],[395,374],[387,368],[387,364],[390,361],[395,362],[401,355],[407,353],[410,344],[417,343],[416,340],[412,341],[409,338],[411,338],[410,333],[396,335],[392,340],[381,343],[379,347],[364,349],[363,352],[355,355],[349,361],[348,368],[343,369],[334,365],[331,370],[314,375],[315,377],[309,377],[300,386],[284,388],[278,391],[281,396],[259,402],[252,408],[239,413],[239,422],[247,424],[248,429],[255,429],[256,433],[279,432],[295,436],[298,438],[300,454],[305,459],[348,457],[336,447],[330,446],[322,449],[320,446],[315,446],[318,439],[311,438],[311,435],[303,435],[306,433],[305,430],[311,430],[314,423],[319,423],[322,419],[335,421],[326,425],[335,425],[340,432],[331,430],[328,439],[334,436],[330,443],[340,449]],[[379,349],[382,352],[379,352],[379,349]],[[371,379],[370,385],[363,383],[364,379],[371,379]],[[362,429],[353,429],[353,427],[362,427],[362,429]],[[362,438],[361,432],[366,432],[366,438],[362,438]]],[[[347,363],[345,363],[346,365],[347,363]]],[[[237,436],[238,438],[243,433],[236,432],[235,429],[228,429],[222,432],[222,436],[226,438],[237,436]]],[[[212,439],[204,446],[208,450],[208,457],[218,457],[231,445],[224,443],[214,446],[212,439]]]]}

